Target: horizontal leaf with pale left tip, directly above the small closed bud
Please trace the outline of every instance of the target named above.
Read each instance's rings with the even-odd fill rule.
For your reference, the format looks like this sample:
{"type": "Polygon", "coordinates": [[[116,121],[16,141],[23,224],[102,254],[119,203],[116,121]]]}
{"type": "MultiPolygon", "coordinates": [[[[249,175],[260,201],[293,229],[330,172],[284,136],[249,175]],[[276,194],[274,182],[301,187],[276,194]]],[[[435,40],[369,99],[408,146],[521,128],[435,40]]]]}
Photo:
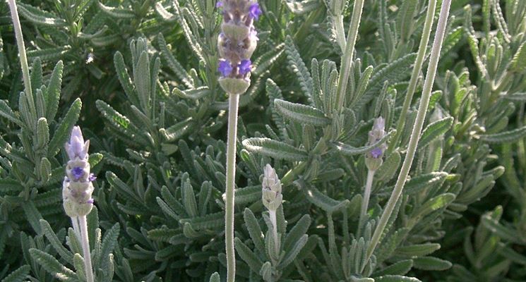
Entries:
{"type": "Polygon", "coordinates": [[[287,161],[306,161],[308,155],[302,149],[269,138],[253,137],[243,140],[243,146],[251,151],[275,159],[287,161]]]}

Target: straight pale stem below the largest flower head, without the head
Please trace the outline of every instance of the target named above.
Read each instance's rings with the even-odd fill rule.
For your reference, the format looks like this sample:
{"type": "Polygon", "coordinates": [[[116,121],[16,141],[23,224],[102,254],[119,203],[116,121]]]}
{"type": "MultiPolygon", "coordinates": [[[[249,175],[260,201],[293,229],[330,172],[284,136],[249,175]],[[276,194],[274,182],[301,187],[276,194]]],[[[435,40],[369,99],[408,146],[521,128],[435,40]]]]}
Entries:
{"type": "Polygon", "coordinates": [[[230,94],[228,104],[227,137],[227,191],[225,211],[225,240],[227,249],[227,282],[236,278],[236,254],[234,253],[234,186],[236,178],[237,108],[239,94],[230,94]]]}

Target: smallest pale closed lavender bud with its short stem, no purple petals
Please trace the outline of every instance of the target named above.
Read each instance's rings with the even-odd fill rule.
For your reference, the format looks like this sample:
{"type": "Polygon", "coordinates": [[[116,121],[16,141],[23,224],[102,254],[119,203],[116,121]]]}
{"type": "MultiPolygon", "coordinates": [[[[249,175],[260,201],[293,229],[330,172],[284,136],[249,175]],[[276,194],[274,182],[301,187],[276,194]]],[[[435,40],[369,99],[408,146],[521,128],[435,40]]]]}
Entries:
{"type": "Polygon", "coordinates": [[[280,241],[277,237],[276,211],[283,202],[283,195],[281,193],[280,178],[277,178],[276,171],[270,164],[267,164],[263,170],[263,182],[261,185],[263,186],[261,198],[263,205],[268,209],[270,223],[273,226],[274,248],[278,252],[280,250],[280,241]]]}

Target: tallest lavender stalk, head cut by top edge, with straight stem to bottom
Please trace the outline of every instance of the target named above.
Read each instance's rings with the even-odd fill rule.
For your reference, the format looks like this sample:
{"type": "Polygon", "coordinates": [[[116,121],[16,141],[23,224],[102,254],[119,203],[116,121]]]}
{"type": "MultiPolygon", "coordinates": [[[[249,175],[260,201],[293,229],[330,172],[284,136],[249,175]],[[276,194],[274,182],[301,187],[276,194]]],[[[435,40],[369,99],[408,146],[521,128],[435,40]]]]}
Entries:
{"type": "Polygon", "coordinates": [[[221,59],[217,71],[219,84],[229,94],[227,133],[227,187],[225,202],[225,240],[227,253],[227,282],[234,282],[236,257],[234,253],[234,187],[236,177],[236,137],[239,95],[250,86],[252,62],[250,60],[258,43],[254,20],[261,16],[256,0],[223,0],[223,23],[217,39],[221,59]]]}

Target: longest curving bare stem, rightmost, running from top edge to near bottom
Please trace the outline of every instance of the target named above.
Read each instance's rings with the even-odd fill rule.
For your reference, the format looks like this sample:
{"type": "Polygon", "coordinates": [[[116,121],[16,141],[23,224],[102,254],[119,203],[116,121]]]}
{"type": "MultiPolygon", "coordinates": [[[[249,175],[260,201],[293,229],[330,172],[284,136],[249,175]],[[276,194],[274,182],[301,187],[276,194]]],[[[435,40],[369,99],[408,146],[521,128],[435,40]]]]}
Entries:
{"type": "Polygon", "coordinates": [[[424,121],[426,119],[426,112],[427,107],[429,106],[429,99],[431,98],[431,90],[435,81],[436,68],[438,66],[438,59],[440,58],[444,33],[446,33],[446,23],[448,22],[450,5],[451,0],[443,0],[440,16],[438,16],[438,24],[436,26],[433,48],[431,49],[431,59],[429,60],[426,80],[424,82],[422,99],[420,99],[417,118],[411,133],[409,147],[407,147],[407,154],[405,156],[404,164],[402,164],[402,168],[400,169],[400,174],[398,175],[398,180],[396,181],[395,189],[393,189],[393,193],[391,194],[385,206],[385,209],[383,210],[383,214],[380,220],[378,221],[378,226],[374,230],[373,237],[371,238],[371,242],[369,243],[369,247],[367,248],[365,257],[366,261],[369,260],[369,258],[371,258],[371,255],[373,255],[376,245],[378,245],[378,242],[380,241],[385,226],[387,225],[391,214],[393,214],[396,202],[398,202],[400,195],[402,195],[405,180],[407,179],[407,176],[409,175],[409,171],[412,166],[414,153],[417,150],[417,145],[420,139],[420,133],[422,132],[422,127],[424,126],[424,121]]]}

